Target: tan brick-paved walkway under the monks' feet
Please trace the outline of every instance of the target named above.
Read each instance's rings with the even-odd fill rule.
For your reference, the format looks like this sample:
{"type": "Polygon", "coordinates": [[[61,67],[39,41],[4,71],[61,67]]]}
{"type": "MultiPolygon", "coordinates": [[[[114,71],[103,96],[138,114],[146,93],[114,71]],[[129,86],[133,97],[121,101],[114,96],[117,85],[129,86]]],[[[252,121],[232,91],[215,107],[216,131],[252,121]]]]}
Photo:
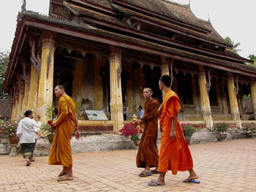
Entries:
{"type": "Polygon", "coordinates": [[[37,157],[25,166],[22,156],[0,156],[0,191],[256,191],[256,139],[189,146],[200,184],[181,183],[188,173],[167,173],[166,184],[148,187],[157,177],[139,177],[136,150],[74,154],[72,181],[57,182],[61,166],[37,157]]]}

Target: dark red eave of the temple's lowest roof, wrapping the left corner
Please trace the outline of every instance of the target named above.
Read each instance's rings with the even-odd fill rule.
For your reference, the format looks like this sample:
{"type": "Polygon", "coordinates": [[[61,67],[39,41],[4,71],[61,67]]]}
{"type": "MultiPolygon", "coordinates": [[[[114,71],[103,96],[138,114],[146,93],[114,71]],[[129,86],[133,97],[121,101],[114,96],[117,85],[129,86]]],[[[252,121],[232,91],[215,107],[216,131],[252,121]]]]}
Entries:
{"type": "Polygon", "coordinates": [[[22,40],[22,34],[24,33],[23,31],[25,26],[34,26],[36,28],[55,31],[60,34],[67,34],[73,37],[78,37],[82,39],[91,39],[94,42],[102,42],[108,45],[116,45],[120,47],[125,47],[127,49],[131,49],[131,50],[138,50],[138,51],[142,51],[142,52],[146,52],[154,55],[162,55],[167,58],[173,58],[180,61],[186,61],[191,64],[210,66],[210,67],[213,67],[216,69],[222,69],[228,72],[234,72],[238,74],[248,75],[250,77],[256,77],[256,69],[255,67],[252,67],[252,66],[230,63],[227,61],[223,61],[223,64],[217,64],[216,63],[217,61],[222,61],[222,60],[207,58],[202,55],[187,53],[185,51],[175,50],[170,47],[157,45],[157,44],[145,42],[145,41],[141,41],[141,44],[138,45],[138,42],[136,43],[136,39],[132,37],[124,37],[122,35],[113,34],[108,31],[102,31],[100,29],[87,26],[85,24],[70,22],[69,20],[47,17],[45,15],[35,14],[34,12],[24,12],[23,19],[20,20],[20,25],[18,25],[18,28],[16,28],[15,40],[14,40],[14,44],[12,45],[12,60],[10,61],[10,64],[7,69],[7,78],[4,82],[4,91],[6,91],[7,82],[10,80],[10,72],[11,72],[10,69],[12,69],[12,66],[15,63],[13,58],[16,56],[18,48],[20,46],[20,42],[22,40]],[[113,36],[115,35],[116,37],[113,38],[113,36]],[[174,52],[171,53],[170,50],[173,50],[174,52]],[[176,51],[178,51],[178,53],[182,53],[183,55],[182,54],[178,55],[177,53],[175,53],[176,51]],[[204,58],[204,61],[200,61],[198,60],[198,58],[199,59],[204,58]],[[230,66],[228,66],[227,64],[230,64],[230,66]]]}

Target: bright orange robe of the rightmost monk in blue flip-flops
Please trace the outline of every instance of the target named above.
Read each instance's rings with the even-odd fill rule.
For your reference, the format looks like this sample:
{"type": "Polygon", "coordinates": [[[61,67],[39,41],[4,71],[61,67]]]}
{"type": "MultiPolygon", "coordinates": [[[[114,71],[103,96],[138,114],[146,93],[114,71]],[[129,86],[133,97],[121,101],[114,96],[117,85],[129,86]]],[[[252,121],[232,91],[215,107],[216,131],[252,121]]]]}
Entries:
{"type": "Polygon", "coordinates": [[[176,139],[170,139],[172,120],[178,114],[178,110],[181,110],[178,96],[173,91],[167,91],[162,104],[163,110],[160,116],[162,137],[158,171],[172,170],[173,174],[177,174],[178,171],[190,170],[193,168],[192,156],[179,122],[176,126],[176,139]]]}

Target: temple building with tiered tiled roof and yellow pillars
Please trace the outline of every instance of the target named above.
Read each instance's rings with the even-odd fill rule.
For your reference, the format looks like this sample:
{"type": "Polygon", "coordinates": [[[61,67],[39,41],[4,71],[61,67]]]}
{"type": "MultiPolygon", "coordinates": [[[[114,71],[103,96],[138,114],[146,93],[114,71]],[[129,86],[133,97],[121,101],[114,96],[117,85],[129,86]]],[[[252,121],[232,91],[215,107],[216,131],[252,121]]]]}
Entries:
{"type": "MultiPolygon", "coordinates": [[[[165,0],[50,0],[49,15],[23,6],[4,91],[12,118],[58,107],[58,84],[75,100],[81,131],[118,132],[144,104],[143,88],[162,102],[169,74],[182,122],[241,128],[256,115],[256,68],[232,50],[189,5],[165,0]],[[125,106],[125,107],[123,107],[125,106]],[[86,110],[108,120],[88,120],[86,110]]],[[[252,121],[251,121],[252,122],[252,121]]]]}

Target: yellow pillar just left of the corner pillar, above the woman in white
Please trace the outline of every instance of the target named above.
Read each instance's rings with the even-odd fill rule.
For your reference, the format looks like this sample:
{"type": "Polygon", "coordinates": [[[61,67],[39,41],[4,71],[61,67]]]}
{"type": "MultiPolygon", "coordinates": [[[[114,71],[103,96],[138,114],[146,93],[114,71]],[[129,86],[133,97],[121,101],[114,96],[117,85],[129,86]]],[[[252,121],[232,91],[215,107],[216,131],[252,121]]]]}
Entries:
{"type": "Polygon", "coordinates": [[[38,72],[34,66],[31,66],[28,109],[37,114],[37,91],[38,91],[38,72]]]}

